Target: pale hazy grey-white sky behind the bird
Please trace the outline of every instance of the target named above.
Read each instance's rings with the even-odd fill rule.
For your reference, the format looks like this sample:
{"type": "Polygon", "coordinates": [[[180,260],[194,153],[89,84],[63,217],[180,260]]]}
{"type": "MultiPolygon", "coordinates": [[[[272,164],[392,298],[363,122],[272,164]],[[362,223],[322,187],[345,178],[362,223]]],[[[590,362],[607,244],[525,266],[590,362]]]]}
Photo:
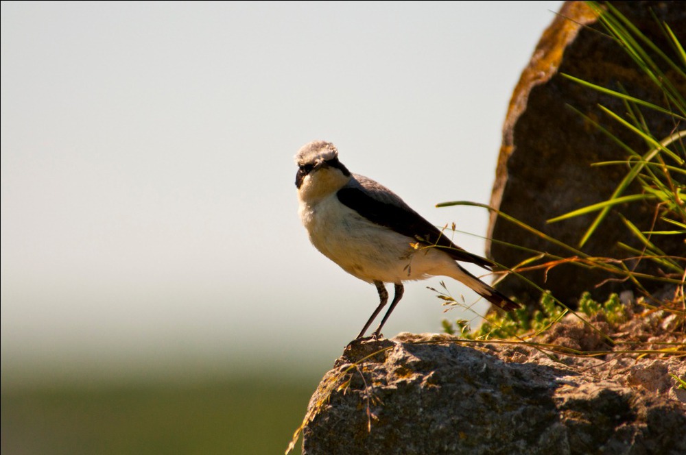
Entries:
{"type": "MultiPolygon", "coordinates": [[[[328,369],[378,297],[309,244],[294,154],[332,141],[483,254],[484,210],[434,206],[488,203],[561,4],[3,1],[3,381],[22,362],[328,369]]],[[[443,314],[441,280],[406,284],[384,334],[471,317],[443,314]]]]}

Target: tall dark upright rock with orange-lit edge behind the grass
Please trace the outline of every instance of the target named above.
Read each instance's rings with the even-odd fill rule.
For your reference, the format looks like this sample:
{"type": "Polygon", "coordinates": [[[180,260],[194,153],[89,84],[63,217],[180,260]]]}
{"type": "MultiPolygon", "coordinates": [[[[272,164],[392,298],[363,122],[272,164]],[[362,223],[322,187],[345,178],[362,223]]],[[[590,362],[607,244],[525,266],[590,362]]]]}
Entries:
{"type": "MultiPolygon", "coordinates": [[[[682,43],[686,43],[686,8],[678,1],[611,1],[641,31],[661,49],[671,49],[659,30],[652,12],[659,21],[672,27],[682,43]]],[[[567,73],[580,79],[615,90],[624,87],[630,95],[664,105],[662,93],[618,45],[607,36],[598,33],[602,26],[593,12],[582,1],[567,1],[552,25],[544,32],[532,59],[514,89],[504,124],[503,143],[500,150],[497,177],[493,186],[490,205],[528,225],[576,247],[595,214],[576,217],[558,223],[547,223],[561,214],[583,208],[608,199],[626,174],[626,167],[591,167],[592,163],[606,160],[623,160],[626,152],[596,127],[585,121],[580,112],[598,121],[624,143],[641,153],[648,146],[626,127],[619,125],[598,104],[624,115],[622,101],[598,93],[566,79],[567,73]]],[[[676,58],[675,60],[678,60],[676,58]]],[[[686,93],[686,80],[667,71],[681,93],[686,93]]],[[[664,138],[674,130],[670,116],[642,109],[650,130],[657,138],[664,138]]],[[[683,129],[683,125],[681,127],[683,129]]],[[[677,176],[684,180],[683,175],[677,176]]],[[[686,184],[686,181],[682,181],[686,184]]],[[[640,193],[633,186],[626,195],[640,193]]],[[[641,248],[619,217],[619,212],[632,220],[641,230],[650,230],[654,219],[653,208],[648,204],[632,203],[613,210],[601,224],[590,241],[582,248],[591,256],[627,258],[635,256],[617,245],[622,241],[641,248]]],[[[663,229],[659,223],[656,230],[663,229]]],[[[532,254],[508,247],[501,243],[521,245],[536,251],[545,251],[563,258],[573,256],[529,232],[515,227],[493,212],[488,236],[493,243],[486,245],[487,255],[508,267],[530,258],[532,254]]],[[[684,256],[684,238],[678,236],[653,236],[652,238],[667,255],[684,256]]],[[[660,274],[653,262],[642,260],[628,262],[636,271],[660,274]]],[[[583,291],[591,291],[596,299],[604,299],[612,292],[631,288],[632,284],[605,281],[616,278],[600,271],[587,271],[573,265],[560,265],[547,272],[532,271],[525,276],[549,289],[558,299],[573,306],[583,291]],[[600,288],[595,285],[604,283],[600,288]]],[[[649,292],[657,291],[662,284],[643,282],[649,292]]],[[[508,276],[498,288],[506,295],[515,295],[524,301],[536,301],[536,291],[523,280],[508,276]]]]}

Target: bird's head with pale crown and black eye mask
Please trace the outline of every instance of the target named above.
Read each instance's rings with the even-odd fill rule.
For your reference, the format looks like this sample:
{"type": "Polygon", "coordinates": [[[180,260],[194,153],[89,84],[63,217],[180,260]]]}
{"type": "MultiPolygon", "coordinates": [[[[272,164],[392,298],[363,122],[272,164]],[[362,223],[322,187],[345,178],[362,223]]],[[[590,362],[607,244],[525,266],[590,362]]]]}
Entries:
{"type": "Polygon", "coordinates": [[[338,149],[324,140],[303,145],[296,153],[296,187],[302,199],[324,197],[340,190],[351,173],[338,160],[338,149]]]}

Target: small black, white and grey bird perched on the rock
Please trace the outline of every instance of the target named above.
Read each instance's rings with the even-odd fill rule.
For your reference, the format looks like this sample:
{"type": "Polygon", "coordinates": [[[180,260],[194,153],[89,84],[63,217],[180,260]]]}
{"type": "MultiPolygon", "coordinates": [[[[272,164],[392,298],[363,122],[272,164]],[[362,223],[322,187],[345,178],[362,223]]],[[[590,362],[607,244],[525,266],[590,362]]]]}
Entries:
{"type": "Polygon", "coordinates": [[[394,296],[372,339],[382,337],[381,328],[402,299],[405,281],[447,276],[503,310],[520,307],[457,261],[488,270],[495,262],[458,247],[391,190],[348,171],[333,143],[307,143],[295,161],[298,213],[312,245],[344,271],[374,284],[379,293],[379,305],[355,340],[364,339],[388,303],[386,283],[394,285],[394,296]]]}

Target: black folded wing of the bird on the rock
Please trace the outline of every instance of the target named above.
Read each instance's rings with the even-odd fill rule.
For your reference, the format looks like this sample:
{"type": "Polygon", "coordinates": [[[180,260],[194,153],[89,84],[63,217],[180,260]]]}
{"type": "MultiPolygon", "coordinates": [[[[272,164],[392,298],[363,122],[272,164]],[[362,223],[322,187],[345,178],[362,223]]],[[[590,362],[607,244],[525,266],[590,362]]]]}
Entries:
{"type": "Polygon", "coordinates": [[[490,260],[452,243],[445,234],[412,210],[398,195],[363,175],[353,175],[351,182],[338,190],[336,196],[342,204],[372,223],[388,227],[422,245],[438,247],[454,260],[472,262],[489,270],[495,266],[490,260]]]}

